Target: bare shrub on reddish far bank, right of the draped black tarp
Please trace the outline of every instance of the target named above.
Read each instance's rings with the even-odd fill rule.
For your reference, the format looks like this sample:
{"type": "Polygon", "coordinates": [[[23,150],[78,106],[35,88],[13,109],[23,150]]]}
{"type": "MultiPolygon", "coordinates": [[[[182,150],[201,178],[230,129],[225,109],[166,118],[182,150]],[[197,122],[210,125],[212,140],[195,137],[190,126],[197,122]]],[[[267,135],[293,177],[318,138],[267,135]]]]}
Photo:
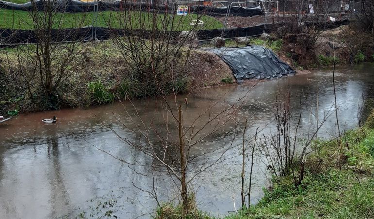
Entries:
{"type": "Polygon", "coordinates": [[[272,15],[274,32],[284,39],[283,50],[298,65],[308,68],[316,63],[315,43],[328,22],[328,12],[334,4],[336,1],[330,0],[279,3],[279,11],[272,15]]]}

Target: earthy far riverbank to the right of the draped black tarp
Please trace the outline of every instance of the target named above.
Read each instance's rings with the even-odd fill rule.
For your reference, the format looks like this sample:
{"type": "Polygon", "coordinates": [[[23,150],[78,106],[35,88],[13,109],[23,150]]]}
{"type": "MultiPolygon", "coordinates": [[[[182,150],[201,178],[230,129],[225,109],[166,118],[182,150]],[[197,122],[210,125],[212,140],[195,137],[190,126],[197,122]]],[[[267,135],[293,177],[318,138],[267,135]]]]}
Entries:
{"type": "MultiPolygon", "coordinates": [[[[299,71],[329,67],[334,65],[334,60],[336,65],[374,61],[373,35],[357,33],[354,25],[321,31],[315,42],[312,42],[314,36],[307,34],[288,34],[279,39],[272,33],[268,38],[253,38],[251,44],[272,49],[281,60],[299,71]]],[[[245,46],[234,41],[230,41],[229,45],[245,46]]]]}

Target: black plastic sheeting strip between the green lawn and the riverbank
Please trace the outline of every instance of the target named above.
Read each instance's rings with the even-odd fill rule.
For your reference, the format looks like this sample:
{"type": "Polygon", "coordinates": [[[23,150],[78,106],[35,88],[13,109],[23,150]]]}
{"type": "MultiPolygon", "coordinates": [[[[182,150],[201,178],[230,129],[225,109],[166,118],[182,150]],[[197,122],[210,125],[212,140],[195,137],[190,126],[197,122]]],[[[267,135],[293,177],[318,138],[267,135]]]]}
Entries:
{"type": "MultiPolygon", "coordinates": [[[[255,27],[247,28],[230,28],[224,31],[224,38],[235,38],[235,37],[245,37],[245,36],[255,36],[260,35],[264,31],[264,25],[259,25],[255,27]]],[[[270,25],[266,26],[266,32],[269,32],[270,25]]],[[[83,28],[67,28],[61,30],[52,30],[51,38],[53,42],[68,42],[68,41],[79,41],[79,40],[90,40],[93,38],[92,32],[96,32],[96,39],[106,40],[113,35],[118,36],[141,36],[145,38],[157,37],[159,32],[151,32],[147,30],[124,30],[124,29],[110,29],[103,27],[83,27],[83,28]]],[[[200,30],[197,31],[196,36],[199,40],[210,40],[214,37],[222,36],[222,29],[214,30],[200,30]]],[[[180,31],[170,31],[167,33],[169,37],[178,37],[180,31]]],[[[165,35],[165,33],[162,33],[165,35]]],[[[36,43],[36,34],[33,30],[11,30],[11,29],[0,29],[0,46],[1,45],[17,45],[26,43],[36,43]]]]}

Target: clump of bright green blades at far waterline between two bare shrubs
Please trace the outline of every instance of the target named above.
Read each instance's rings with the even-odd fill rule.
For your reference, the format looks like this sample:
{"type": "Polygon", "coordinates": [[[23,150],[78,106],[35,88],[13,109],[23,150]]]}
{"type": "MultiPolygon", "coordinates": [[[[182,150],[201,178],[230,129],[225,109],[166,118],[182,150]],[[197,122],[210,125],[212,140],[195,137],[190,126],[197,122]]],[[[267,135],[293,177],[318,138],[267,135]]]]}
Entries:
{"type": "Polygon", "coordinates": [[[105,87],[101,81],[88,83],[87,92],[90,95],[91,101],[99,105],[113,102],[114,100],[113,93],[111,93],[109,88],[105,87]]]}

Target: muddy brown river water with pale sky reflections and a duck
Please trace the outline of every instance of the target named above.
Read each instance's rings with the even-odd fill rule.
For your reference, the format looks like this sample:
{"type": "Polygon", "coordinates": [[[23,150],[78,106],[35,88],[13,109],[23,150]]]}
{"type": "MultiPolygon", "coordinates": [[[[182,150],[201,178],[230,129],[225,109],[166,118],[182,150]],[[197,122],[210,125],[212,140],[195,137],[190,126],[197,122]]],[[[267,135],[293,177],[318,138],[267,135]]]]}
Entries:
{"type": "MultiPolygon", "coordinates": [[[[228,85],[204,89],[188,96],[185,120],[188,122],[195,118],[219,99],[235,102],[250,87],[252,84],[228,85]]],[[[318,115],[322,116],[335,109],[331,69],[261,81],[245,99],[239,113],[242,117],[250,117],[253,124],[248,135],[253,134],[256,127],[263,129],[261,134],[264,135],[274,131],[274,102],[278,92],[284,93],[288,89],[294,109],[299,109],[300,96],[308,97],[308,107],[302,108],[301,132],[304,134],[316,121],[309,110],[318,111],[318,115]],[[318,109],[315,104],[317,99],[318,109]]],[[[374,95],[374,65],[339,67],[336,71],[336,93],[341,129],[355,128],[362,95],[367,98],[374,95]]],[[[178,98],[183,100],[185,96],[178,98]]],[[[139,114],[145,116],[142,115],[145,108],[149,110],[155,103],[154,100],[139,100],[134,105],[139,114]]],[[[219,106],[216,110],[220,110],[219,106]]],[[[162,112],[154,113],[157,126],[162,112]]],[[[319,137],[334,136],[335,124],[335,117],[331,116],[323,125],[319,137]]],[[[87,218],[98,218],[108,209],[113,209],[118,218],[136,218],[152,212],[154,201],[133,186],[134,183],[147,188],[152,183],[150,179],[136,174],[128,164],[113,159],[96,147],[129,161],[149,162],[149,158],[116,138],[108,127],[123,137],[133,138],[131,130],[134,127],[120,103],[90,109],[22,114],[0,124],[0,218],[75,218],[84,212],[87,218]],[[58,117],[57,124],[41,122],[42,118],[53,115],[58,117]],[[98,204],[108,200],[115,202],[115,206],[104,208],[98,204]]],[[[207,148],[211,147],[202,145],[193,153],[204,153],[207,148]]],[[[241,167],[240,157],[235,157],[235,153],[238,149],[233,150],[231,159],[202,174],[193,184],[199,208],[212,215],[233,211],[234,201],[236,207],[240,205],[241,167]]],[[[268,185],[264,162],[260,159],[255,161],[253,203],[261,198],[262,187],[268,185]]],[[[162,188],[166,191],[167,187],[166,184],[160,186],[161,199],[172,197],[172,191],[162,191],[162,188]]]]}

